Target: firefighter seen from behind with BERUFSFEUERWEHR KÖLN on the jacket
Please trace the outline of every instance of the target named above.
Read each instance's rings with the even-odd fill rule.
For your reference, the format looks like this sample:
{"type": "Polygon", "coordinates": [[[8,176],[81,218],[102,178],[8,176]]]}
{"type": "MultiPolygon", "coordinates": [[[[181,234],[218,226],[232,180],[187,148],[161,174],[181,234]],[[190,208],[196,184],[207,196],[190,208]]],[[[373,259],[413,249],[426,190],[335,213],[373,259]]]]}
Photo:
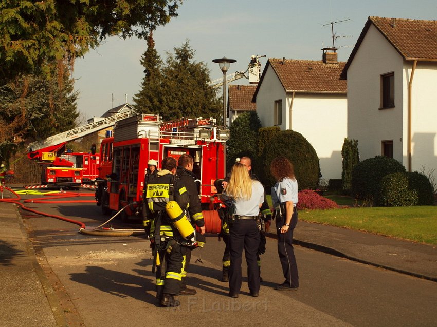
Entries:
{"type": "MultiPolygon", "coordinates": [[[[156,263],[156,297],[162,306],[179,306],[174,298],[179,294],[181,278],[184,272],[186,246],[190,245],[181,237],[173,225],[166,205],[176,201],[178,207],[189,206],[186,187],[176,179],[176,159],[166,157],[161,162],[162,170],[145,185],[145,222],[144,228],[153,242],[154,262],[156,263]]],[[[180,210],[179,208],[179,210],[180,210]]],[[[192,228],[191,224],[189,227],[192,228]]],[[[193,234],[194,230],[193,230],[193,234]]]]}

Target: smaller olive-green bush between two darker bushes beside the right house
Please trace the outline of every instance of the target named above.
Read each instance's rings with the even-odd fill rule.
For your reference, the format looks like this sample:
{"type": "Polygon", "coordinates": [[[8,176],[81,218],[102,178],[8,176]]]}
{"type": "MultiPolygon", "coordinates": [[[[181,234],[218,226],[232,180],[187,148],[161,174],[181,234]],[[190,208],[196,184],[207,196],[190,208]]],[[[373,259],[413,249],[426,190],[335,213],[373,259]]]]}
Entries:
{"type": "Polygon", "coordinates": [[[417,205],[417,191],[408,188],[408,178],[405,172],[396,172],[381,180],[380,204],[391,207],[406,207],[417,205]]]}

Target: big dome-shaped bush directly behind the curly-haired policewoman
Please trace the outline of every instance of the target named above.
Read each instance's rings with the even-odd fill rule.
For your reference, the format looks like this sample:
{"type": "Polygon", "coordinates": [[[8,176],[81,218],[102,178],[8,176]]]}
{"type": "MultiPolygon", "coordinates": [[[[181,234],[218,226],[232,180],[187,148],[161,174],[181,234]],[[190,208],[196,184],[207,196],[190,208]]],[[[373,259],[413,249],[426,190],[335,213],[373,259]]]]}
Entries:
{"type": "Polygon", "coordinates": [[[288,158],[294,165],[295,175],[300,189],[316,188],[319,184],[319,158],[313,146],[293,130],[276,133],[264,149],[264,167],[266,169],[265,186],[276,183],[270,174],[271,161],[279,156],[288,158]]]}

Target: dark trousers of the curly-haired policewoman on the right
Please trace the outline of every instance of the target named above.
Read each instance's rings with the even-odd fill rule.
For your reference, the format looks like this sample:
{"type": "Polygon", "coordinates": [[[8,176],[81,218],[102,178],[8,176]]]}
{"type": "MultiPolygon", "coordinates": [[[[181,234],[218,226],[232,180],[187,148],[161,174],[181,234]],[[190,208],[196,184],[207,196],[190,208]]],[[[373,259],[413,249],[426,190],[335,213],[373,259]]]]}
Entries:
{"type": "MultiPolygon", "coordinates": [[[[284,215],[285,218],[285,215],[284,215]]],[[[281,261],[282,272],[285,282],[290,286],[299,287],[299,275],[297,271],[296,257],[293,249],[293,230],[297,224],[297,209],[294,208],[292,221],[287,233],[281,233],[281,227],[285,224],[284,218],[276,219],[276,231],[278,233],[278,254],[281,261]]]]}

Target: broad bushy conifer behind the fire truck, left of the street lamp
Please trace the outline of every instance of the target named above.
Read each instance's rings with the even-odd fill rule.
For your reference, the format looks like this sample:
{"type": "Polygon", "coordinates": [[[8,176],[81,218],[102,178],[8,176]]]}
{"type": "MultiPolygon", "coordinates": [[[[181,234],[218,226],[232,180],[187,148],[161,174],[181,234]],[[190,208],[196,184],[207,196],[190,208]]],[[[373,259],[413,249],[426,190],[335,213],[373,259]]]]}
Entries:
{"type": "Polygon", "coordinates": [[[193,60],[194,54],[188,40],[174,48],[174,55],[167,53],[159,109],[165,120],[199,116],[220,118],[221,101],[209,85],[210,71],[204,62],[193,60]]]}

